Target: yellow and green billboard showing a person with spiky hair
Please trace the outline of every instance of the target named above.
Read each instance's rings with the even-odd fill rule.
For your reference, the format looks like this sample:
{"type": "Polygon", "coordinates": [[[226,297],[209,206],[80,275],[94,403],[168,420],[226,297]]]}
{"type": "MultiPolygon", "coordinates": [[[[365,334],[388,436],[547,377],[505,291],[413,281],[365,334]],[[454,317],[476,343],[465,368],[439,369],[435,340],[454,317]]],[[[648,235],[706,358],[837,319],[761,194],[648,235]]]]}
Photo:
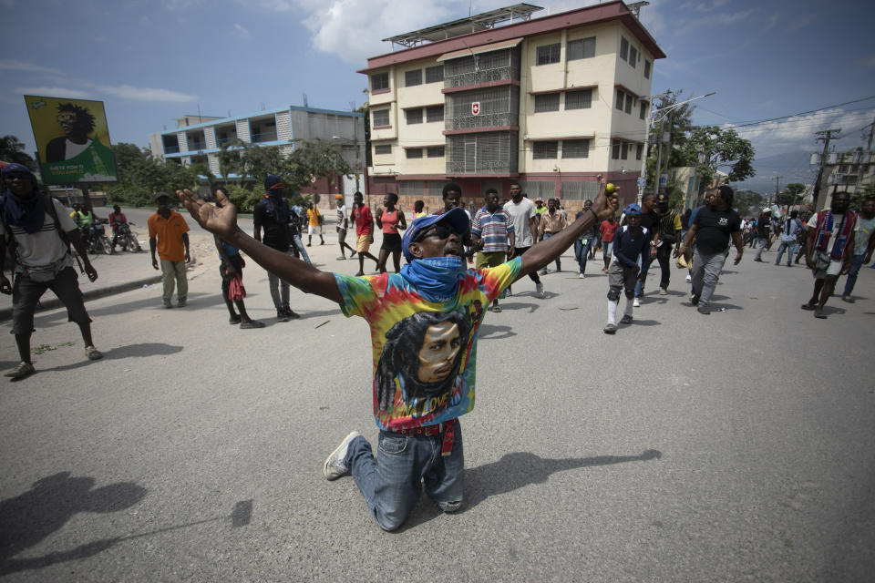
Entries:
{"type": "Polygon", "coordinates": [[[44,184],[115,182],[102,101],[25,96],[44,184]]]}

